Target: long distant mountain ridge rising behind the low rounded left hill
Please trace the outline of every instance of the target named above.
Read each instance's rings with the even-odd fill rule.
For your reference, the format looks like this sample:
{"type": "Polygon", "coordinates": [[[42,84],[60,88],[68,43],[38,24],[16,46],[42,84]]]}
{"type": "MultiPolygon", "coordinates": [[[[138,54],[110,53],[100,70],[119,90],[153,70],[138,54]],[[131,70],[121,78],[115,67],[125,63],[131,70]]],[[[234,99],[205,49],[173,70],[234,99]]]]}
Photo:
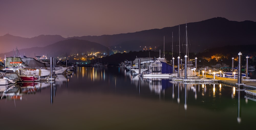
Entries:
{"type": "MultiPolygon", "coordinates": [[[[256,44],[256,22],[253,21],[230,21],[226,18],[216,17],[199,22],[187,23],[189,52],[203,52],[206,49],[214,47],[223,47],[227,45],[249,45],[256,44]]],[[[63,38],[59,35],[40,35],[33,38],[22,38],[6,34],[0,36],[0,53],[7,53],[15,49],[45,47],[58,41],[67,39],[87,40],[99,43],[106,48],[120,51],[139,51],[143,48],[158,51],[163,50],[165,37],[165,50],[171,50],[172,32],[174,41],[174,51],[177,52],[179,26],[165,27],[162,29],[150,29],[133,33],[122,33],[102,36],[82,36],[63,38]]],[[[185,24],[180,25],[181,48],[185,44],[185,24]]],[[[70,48],[73,48],[70,43],[70,48]]],[[[59,48],[61,50],[61,48],[59,48]]],[[[95,51],[98,48],[94,48],[95,51]]],[[[48,50],[45,50],[46,53],[48,50]]]]}

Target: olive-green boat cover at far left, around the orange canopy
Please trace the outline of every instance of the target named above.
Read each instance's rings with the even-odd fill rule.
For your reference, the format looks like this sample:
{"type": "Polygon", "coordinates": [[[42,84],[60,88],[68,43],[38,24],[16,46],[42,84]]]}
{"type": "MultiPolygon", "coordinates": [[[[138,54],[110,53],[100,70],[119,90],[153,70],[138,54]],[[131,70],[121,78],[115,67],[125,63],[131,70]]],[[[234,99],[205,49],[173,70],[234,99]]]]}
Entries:
{"type": "Polygon", "coordinates": [[[5,67],[27,66],[20,57],[6,57],[5,67]],[[20,65],[21,64],[21,65],[20,65]]]}

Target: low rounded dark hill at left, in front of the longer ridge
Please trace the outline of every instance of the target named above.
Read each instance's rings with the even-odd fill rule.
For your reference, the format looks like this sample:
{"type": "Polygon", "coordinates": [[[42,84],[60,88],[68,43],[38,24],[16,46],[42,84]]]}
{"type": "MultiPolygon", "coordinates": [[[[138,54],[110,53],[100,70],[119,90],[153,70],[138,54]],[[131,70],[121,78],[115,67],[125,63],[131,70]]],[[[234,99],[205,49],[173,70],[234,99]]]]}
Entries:
{"type": "MultiPolygon", "coordinates": [[[[90,42],[86,40],[79,39],[67,39],[63,41],[56,42],[54,44],[45,46],[45,47],[34,47],[29,49],[19,49],[20,56],[26,57],[35,57],[41,56],[43,54],[48,55],[48,57],[57,57],[57,56],[67,56],[70,54],[81,54],[81,53],[89,53],[89,52],[107,52],[108,48],[105,46],[90,42]]],[[[15,52],[16,53],[16,52],[15,52]]],[[[13,51],[0,54],[0,57],[11,57],[14,55],[13,51]]]]}

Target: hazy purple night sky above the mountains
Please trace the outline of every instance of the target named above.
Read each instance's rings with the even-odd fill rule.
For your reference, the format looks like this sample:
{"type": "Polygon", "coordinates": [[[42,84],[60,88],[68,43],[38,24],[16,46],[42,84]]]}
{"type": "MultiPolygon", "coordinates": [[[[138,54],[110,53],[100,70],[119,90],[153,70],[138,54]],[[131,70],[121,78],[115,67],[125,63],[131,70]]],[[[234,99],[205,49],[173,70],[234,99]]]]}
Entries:
{"type": "Polygon", "coordinates": [[[213,17],[256,21],[255,0],[0,0],[0,36],[100,36],[213,17]]]}

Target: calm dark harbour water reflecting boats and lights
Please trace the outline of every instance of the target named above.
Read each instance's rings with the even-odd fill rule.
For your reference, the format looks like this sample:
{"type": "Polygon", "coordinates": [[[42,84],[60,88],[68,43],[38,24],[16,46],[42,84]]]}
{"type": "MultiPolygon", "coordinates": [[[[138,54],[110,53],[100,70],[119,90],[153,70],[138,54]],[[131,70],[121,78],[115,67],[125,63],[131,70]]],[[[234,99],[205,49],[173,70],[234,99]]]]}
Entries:
{"type": "Polygon", "coordinates": [[[256,120],[256,102],[233,86],[143,79],[118,67],[13,87],[0,100],[1,129],[254,129],[256,120]]]}

